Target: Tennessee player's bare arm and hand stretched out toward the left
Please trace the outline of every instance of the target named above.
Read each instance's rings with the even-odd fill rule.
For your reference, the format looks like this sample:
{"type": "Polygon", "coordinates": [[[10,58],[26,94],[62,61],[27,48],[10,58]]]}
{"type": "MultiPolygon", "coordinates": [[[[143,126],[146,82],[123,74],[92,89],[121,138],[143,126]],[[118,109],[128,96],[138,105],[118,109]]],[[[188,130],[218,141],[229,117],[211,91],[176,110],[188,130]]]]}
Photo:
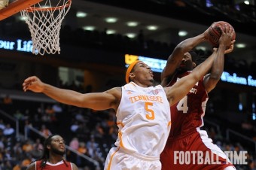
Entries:
{"type": "Polygon", "coordinates": [[[102,93],[78,93],[73,90],[60,89],[50,84],[43,83],[38,77],[26,78],[23,82],[23,90],[31,90],[35,93],[44,93],[57,102],[66,105],[74,105],[94,110],[117,109],[121,97],[121,88],[115,87],[102,93]]]}

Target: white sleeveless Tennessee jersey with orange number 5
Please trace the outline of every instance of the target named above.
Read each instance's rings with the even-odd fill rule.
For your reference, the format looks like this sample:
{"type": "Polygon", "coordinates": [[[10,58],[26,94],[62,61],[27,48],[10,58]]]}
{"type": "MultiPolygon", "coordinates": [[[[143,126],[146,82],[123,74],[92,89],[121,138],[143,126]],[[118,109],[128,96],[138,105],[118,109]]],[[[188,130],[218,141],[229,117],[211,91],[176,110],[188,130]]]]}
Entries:
{"type": "Polygon", "coordinates": [[[117,126],[117,147],[130,153],[160,156],[171,127],[169,102],[163,87],[139,87],[133,82],[123,86],[117,126]]]}

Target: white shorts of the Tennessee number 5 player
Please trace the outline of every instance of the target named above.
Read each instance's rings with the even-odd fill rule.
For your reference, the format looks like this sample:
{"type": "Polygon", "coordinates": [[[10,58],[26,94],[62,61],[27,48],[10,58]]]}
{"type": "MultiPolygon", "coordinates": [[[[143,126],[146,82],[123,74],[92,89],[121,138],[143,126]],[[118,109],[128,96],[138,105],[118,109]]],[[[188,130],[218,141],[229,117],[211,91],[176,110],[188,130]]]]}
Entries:
{"type": "Polygon", "coordinates": [[[161,170],[160,156],[145,156],[113,147],[108,153],[104,170],[161,170]]]}

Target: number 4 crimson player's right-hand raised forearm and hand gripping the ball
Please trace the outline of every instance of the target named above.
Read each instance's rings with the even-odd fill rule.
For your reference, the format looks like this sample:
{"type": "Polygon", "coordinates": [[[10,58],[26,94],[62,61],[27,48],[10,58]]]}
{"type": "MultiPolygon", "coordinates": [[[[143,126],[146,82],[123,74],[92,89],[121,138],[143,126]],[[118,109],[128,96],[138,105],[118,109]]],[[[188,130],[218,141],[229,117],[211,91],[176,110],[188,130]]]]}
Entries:
{"type": "MultiPolygon", "coordinates": [[[[229,49],[225,50],[224,52],[222,50],[218,50],[217,56],[215,57],[215,60],[212,64],[211,72],[210,74],[207,74],[206,77],[203,80],[204,87],[206,88],[206,91],[209,93],[211,90],[213,90],[218,81],[221,78],[221,74],[224,70],[224,54],[225,53],[230,53],[233,51],[233,44],[235,43],[235,40],[233,40],[230,44],[230,37],[233,37],[234,34],[234,29],[231,27],[225,28],[226,34],[221,34],[221,38],[219,40],[220,46],[223,47],[229,47],[229,49]]],[[[221,29],[223,32],[223,30],[221,29]]]]}

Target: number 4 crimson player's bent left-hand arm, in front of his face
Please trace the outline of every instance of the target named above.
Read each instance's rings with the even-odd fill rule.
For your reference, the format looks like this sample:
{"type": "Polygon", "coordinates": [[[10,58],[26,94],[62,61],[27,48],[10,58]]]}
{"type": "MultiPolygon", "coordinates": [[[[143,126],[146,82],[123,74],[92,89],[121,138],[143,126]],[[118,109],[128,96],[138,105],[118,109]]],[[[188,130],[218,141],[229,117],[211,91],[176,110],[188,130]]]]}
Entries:
{"type": "Polygon", "coordinates": [[[166,86],[166,80],[169,76],[172,76],[172,74],[175,72],[175,69],[180,64],[181,60],[183,59],[184,53],[192,50],[194,47],[197,46],[197,44],[200,44],[201,42],[206,41],[205,33],[197,35],[193,38],[187,38],[184,41],[181,41],[175,49],[173,50],[172,54],[167,59],[166,67],[163,68],[163,71],[161,73],[161,84],[162,86],[166,86]]]}

